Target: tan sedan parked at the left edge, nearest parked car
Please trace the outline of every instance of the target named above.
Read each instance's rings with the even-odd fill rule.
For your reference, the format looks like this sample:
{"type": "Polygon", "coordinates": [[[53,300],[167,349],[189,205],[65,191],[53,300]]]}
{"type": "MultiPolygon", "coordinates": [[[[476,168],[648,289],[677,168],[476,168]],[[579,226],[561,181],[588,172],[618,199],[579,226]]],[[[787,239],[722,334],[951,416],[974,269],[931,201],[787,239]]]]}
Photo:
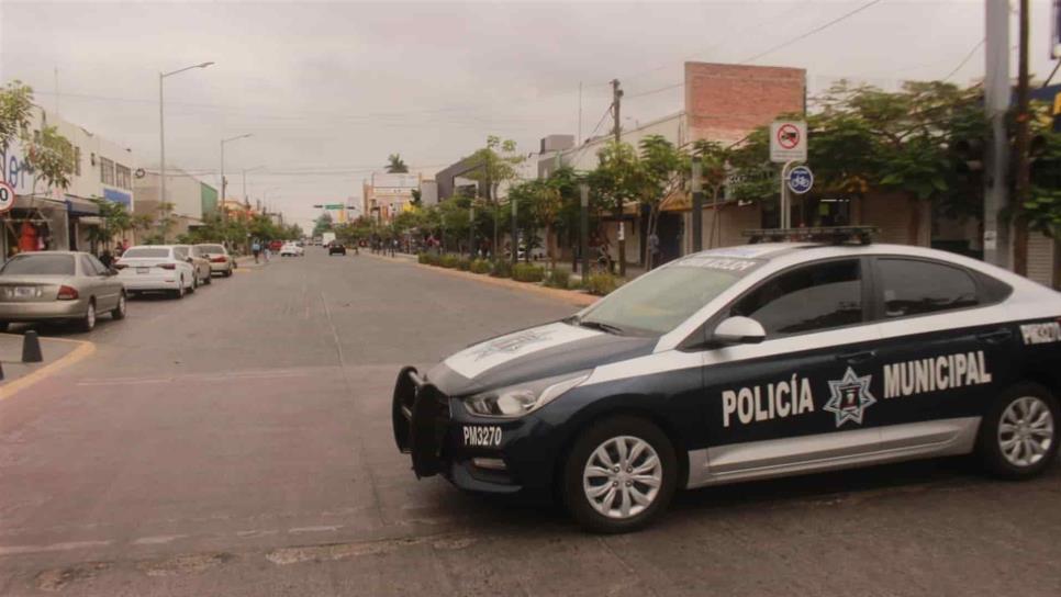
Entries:
{"type": "Polygon", "coordinates": [[[74,322],[91,331],[108,312],[125,318],[125,286],[92,255],[23,252],[0,268],[0,330],[12,322],[74,322]]]}

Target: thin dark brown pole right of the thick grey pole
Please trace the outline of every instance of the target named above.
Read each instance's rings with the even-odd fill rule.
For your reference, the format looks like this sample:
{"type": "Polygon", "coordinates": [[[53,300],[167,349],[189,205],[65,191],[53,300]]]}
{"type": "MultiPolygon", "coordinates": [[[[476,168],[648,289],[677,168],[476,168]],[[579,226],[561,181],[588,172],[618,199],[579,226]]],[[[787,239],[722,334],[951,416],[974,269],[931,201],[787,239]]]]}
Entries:
{"type": "Polygon", "coordinates": [[[1020,42],[1017,52],[1017,184],[1013,216],[1013,271],[1028,274],[1028,221],[1024,216],[1024,203],[1029,199],[1028,172],[1028,0],[1020,0],[1020,42]]]}

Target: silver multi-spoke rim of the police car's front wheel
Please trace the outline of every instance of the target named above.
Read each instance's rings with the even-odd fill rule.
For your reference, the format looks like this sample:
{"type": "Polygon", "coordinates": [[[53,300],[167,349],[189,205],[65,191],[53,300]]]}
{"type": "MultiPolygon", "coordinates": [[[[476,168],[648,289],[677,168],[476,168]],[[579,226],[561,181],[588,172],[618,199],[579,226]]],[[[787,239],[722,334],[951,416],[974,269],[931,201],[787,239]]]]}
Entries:
{"type": "Polygon", "coordinates": [[[608,518],[635,517],[652,505],[663,484],[659,454],[647,441],[619,436],[601,443],[582,470],[582,491],[608,518]]]}

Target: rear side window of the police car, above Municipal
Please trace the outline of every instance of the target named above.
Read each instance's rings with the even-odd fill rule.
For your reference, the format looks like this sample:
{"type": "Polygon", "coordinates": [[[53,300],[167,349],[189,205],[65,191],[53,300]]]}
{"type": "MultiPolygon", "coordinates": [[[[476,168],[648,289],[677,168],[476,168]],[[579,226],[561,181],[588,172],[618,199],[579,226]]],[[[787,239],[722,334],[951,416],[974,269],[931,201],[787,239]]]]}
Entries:
{"type": "Polygon", "coordinates": [[[960,268],[914,259],[878,259],[876,270],[886,319],[980,304],[976,283],[960,268]]]}

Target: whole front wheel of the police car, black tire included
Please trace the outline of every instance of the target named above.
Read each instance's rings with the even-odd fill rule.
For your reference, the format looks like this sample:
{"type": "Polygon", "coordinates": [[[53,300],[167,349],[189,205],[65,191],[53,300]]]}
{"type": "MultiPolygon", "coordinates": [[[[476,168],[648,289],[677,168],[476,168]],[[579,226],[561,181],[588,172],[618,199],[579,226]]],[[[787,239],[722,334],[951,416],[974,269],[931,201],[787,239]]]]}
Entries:
{"type": "Polygon", "coordinates": [[[592,532],[622,533],[645,527],[667,509],[678,485],[678,458],[659,427],[643,418],[617,416],[582,431],[563,463],[562,474],[563,503],[579,525],[592,532]],[[638,452],[626,471],[619,465],[621,444],[626,446],[627,454],[638,452]],[[602,453],[607,461],[601,459],[602,453]],[[652,453],[657,464],[649,468],[652,453]],[[604,466],[605,462],[615,466],[604,466]],[[643,474],[627,478],[638,470],[643,474]],[[639,483],[638,478],[651,483],[639,483]],[[591,497],[594,489],[603,493],[600,500],[591,497]],[[646,503],[641,504],[637,496],[646,503]]]}

